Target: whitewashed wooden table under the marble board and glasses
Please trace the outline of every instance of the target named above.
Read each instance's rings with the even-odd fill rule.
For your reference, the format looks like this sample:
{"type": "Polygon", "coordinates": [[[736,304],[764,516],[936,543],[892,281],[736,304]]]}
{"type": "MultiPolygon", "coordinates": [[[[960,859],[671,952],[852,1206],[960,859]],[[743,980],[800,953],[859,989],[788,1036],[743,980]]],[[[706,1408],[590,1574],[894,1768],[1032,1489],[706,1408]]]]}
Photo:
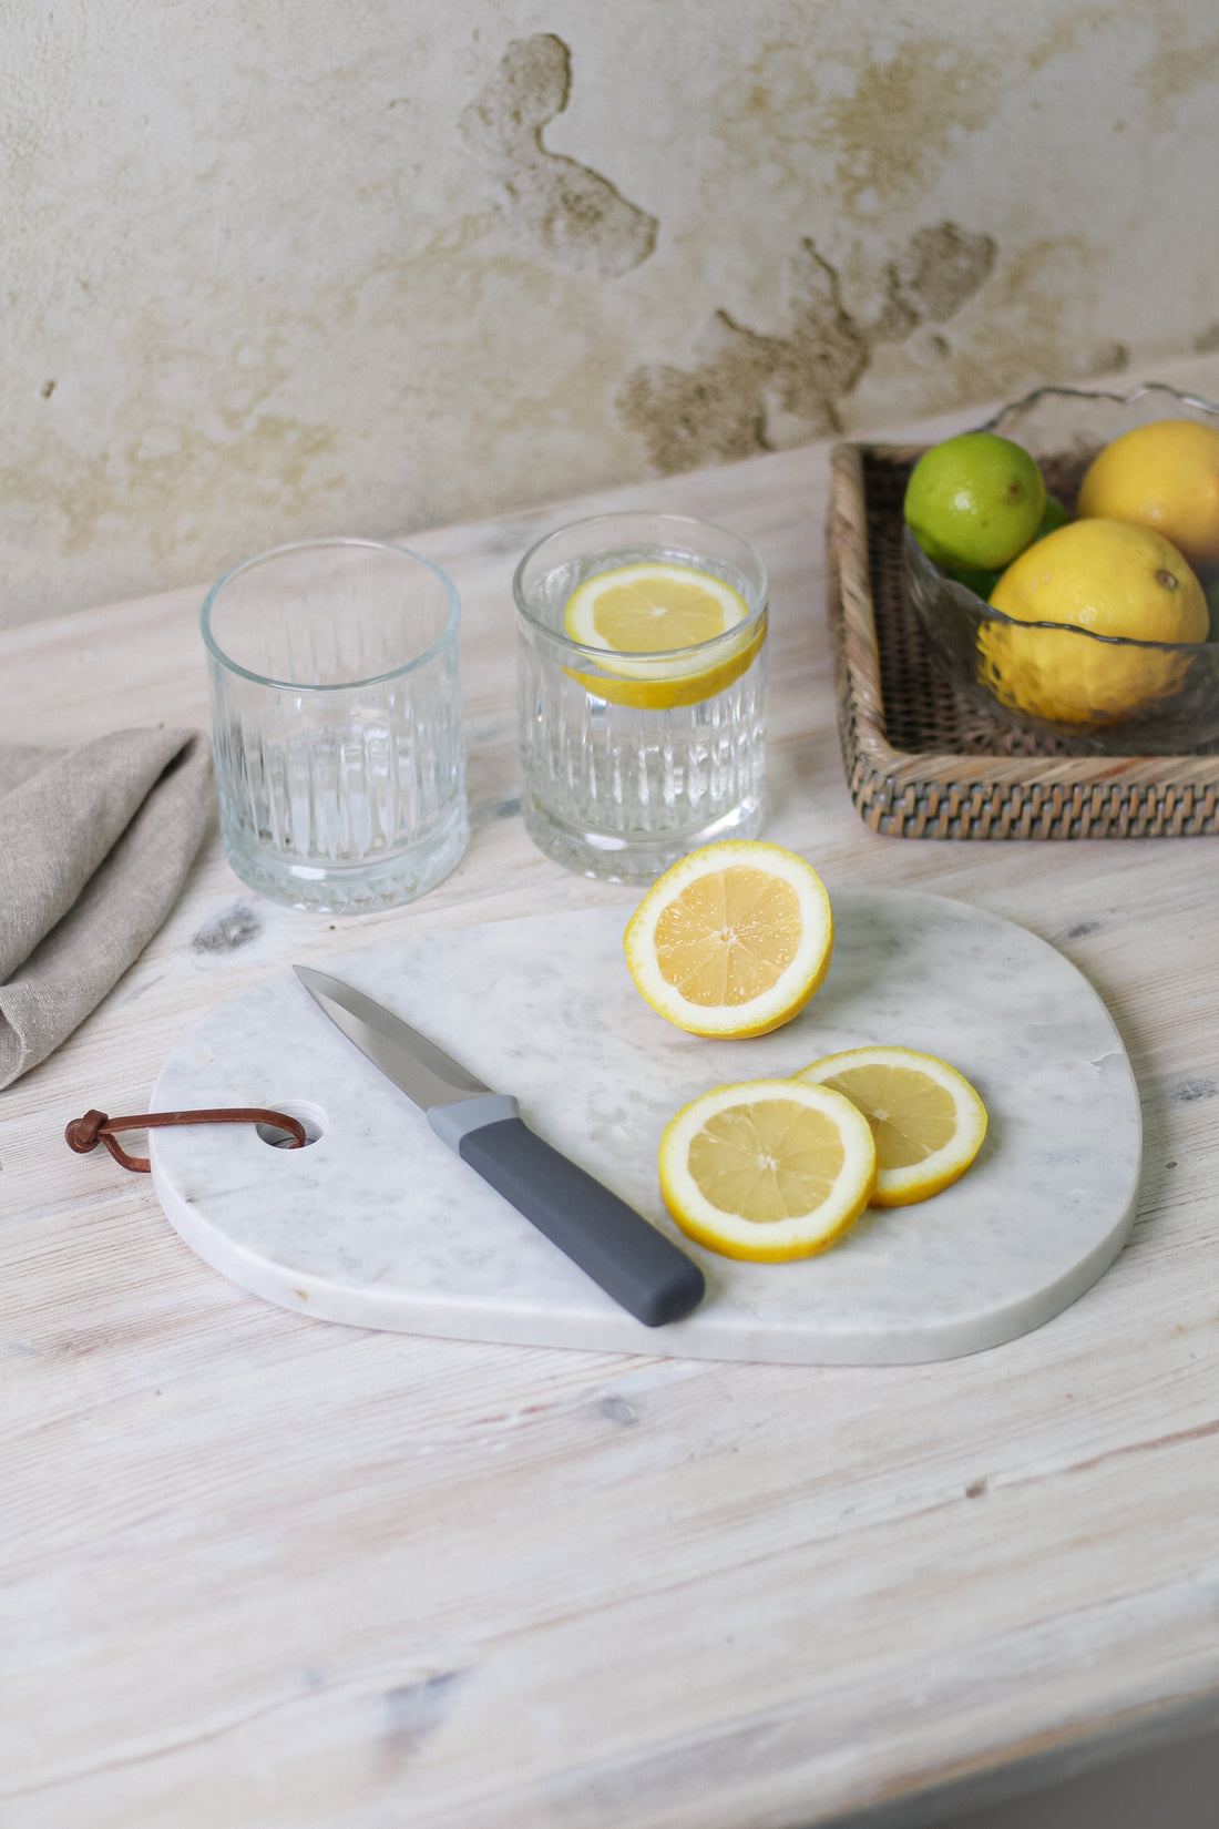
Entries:
{"type": "MultiPolygon", "coordinates": [[[[1164,379],[1215,393],[1219,360],[1164,379]]],[[[1129,1246],[1047,1326],[939,1364],[472,1346],[245,1295],[148,1178],[73,1156],[69,1118],[146,1110],[186,1030],[291,960],[621,900],[515,810],[510,578],[556,510],[415,536],[464,605],[457,874],[340,922],[252,896],[212,836],[0,1096],[4,1829],[919,1824],[1219,1721],[1219,841],[870,834],[826,483],[821,444],[596,503],[764,554],[768,836],[1020,922],[1102,995],[1146,1127],[1129,1246]]],[[[4,735],[205,726],[201,594],[0,638],[4,735]]]]}

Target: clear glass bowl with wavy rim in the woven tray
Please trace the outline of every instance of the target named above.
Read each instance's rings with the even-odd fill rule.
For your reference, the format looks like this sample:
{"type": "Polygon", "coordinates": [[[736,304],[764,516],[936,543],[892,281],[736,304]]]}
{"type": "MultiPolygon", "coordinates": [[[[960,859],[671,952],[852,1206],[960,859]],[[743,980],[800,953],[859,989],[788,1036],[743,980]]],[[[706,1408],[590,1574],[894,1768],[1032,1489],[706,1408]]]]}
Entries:
{"type": "MultiPolygon", "coordinates": [[[[1102,444],[1155,419],[1219,428],[1219,406],[1146,382],[1129,393],[1038,388],[978,426],[1023,444],[1075,514],[1102,444]]],[[[1219,642],[1129,642],[1014,622],[949,578],[903,529],[910,602],[932,658],[972,708],[1093,755],[1192,755],[1219,746],[1219,642]],[[1131,702],[1139,710],[1128,710],[1131,702]]]]}

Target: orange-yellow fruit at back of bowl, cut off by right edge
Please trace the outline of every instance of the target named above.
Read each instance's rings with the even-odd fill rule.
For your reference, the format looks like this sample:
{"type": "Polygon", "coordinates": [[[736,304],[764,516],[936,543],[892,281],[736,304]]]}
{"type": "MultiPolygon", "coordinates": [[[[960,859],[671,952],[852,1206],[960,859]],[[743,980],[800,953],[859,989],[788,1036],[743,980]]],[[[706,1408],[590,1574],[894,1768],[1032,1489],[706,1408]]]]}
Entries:
{"type": "Polygon", "coordinates": [[[1078,512],[1151,527],[1190,565],[1219,563],[1219,426],[1157,419],[1124,432],[1093,457],[1078,512]]]}

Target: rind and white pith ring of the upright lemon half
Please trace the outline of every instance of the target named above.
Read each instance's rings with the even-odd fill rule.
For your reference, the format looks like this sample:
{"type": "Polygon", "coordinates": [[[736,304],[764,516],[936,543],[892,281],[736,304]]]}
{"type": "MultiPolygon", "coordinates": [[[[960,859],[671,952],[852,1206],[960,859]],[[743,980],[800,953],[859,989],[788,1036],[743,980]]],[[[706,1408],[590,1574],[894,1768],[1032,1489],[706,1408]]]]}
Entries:
{"type": "Polygon", "coordinates": [[[673,863],[647,891],[638,909],[627,922],[623,935],[627,968],[636,989],[651,1008],[673,1022],[687,1035],[733,1037],[747,1041],[755,1035],[768,1035],[771,1030],[790,1022],[824,984],[833,958],[833,909],[830,894],[817,871],[797,852],[766,840],[720,840],[705,845],[673,863]],[[775,984],[749,1004],[720,1006],[720,1010],[694,1004],[682,997],[656,968],[656,924],[669,902],[700,876],[733,865],[757,863],[788,882],[800,896],[804,914],[804,933],[791,964],[779,975],[775,984]],[[804,894],[802,894],[804,893],[804,894]],[[813,909],[821,920],[811,920],[804,896],[811,896],[813,909]]]}

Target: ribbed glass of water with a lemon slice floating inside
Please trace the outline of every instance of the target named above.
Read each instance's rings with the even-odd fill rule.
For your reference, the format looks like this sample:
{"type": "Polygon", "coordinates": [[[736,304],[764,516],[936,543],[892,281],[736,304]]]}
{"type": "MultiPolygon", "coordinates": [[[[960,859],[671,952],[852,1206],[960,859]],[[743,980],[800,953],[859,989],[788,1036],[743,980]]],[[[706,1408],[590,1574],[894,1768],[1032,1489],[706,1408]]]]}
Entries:
{"type": "MultiPolygon", "coordinates": [[[[700,845],[755,838],[768,611],[757,552],[678,514],[599,514],[532,547],[514,594],[521,810],[534,843],[585,876],[647,883],[700,845]],[[737,620],[689,646],[623,649],[605,646],[596,616],[574,613],[588,580],[616,572],[638,589],[660,567],[680,569],[669,576],[694,593],[700,576],[713,594],[718,582],[737,620]]],[[[601,587],[592,594],[612,609],[601,587]]]]}

